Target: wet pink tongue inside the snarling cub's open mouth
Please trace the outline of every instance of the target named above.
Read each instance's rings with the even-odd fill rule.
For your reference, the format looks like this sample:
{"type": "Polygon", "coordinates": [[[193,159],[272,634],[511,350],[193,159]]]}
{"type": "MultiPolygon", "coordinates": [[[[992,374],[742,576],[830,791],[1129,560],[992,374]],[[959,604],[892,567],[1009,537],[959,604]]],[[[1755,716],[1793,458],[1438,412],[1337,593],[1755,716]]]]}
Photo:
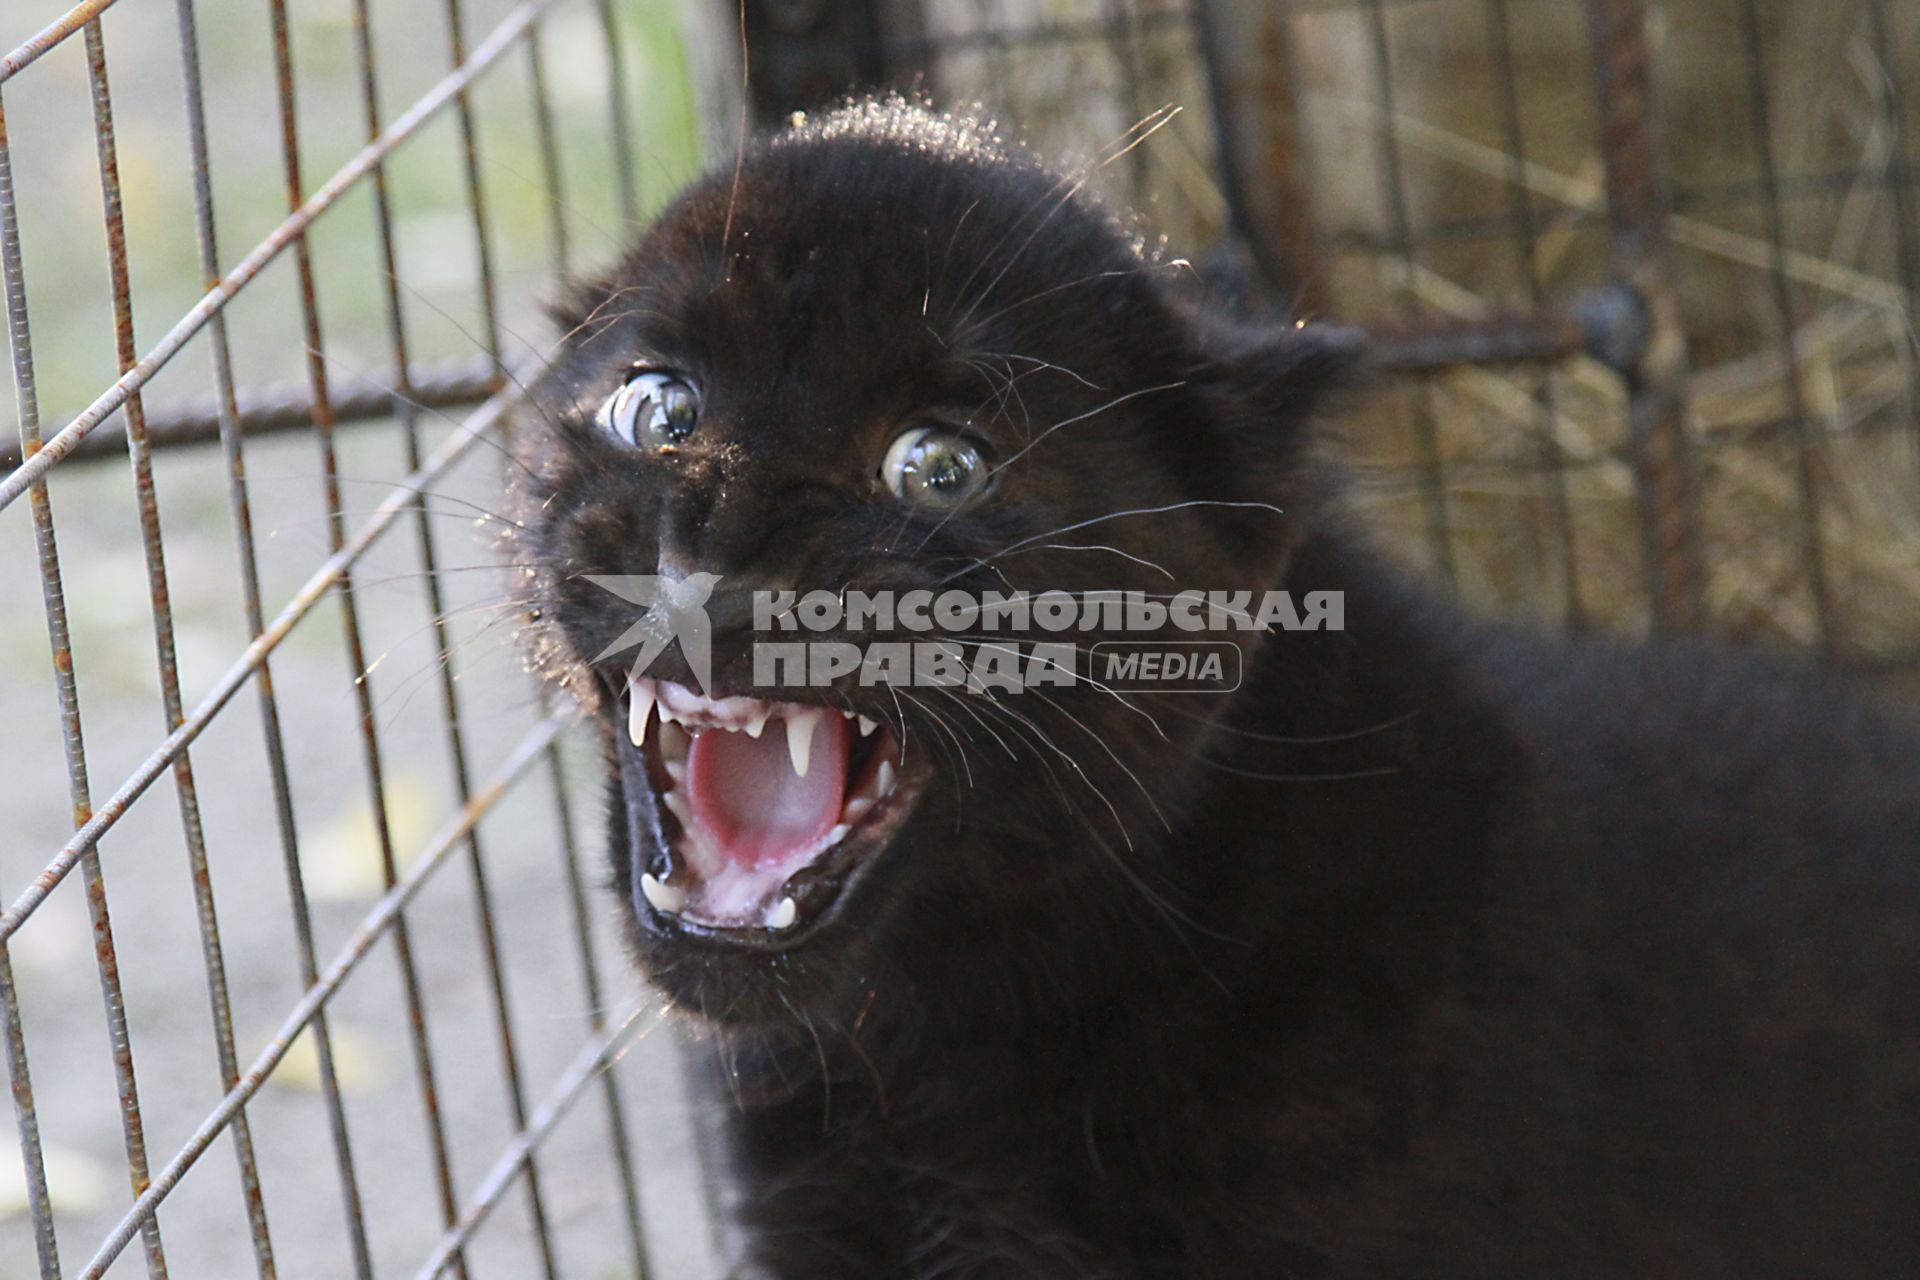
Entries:
{"type": "Polygon", "coordinates": [[[851,733],[841,716],[814,722],[806,777],[793,771],[787,723],[760,737],[708,729],[687,750],[687,798],[707,844],[739,867],[791,860],[839,821],[851,733]]]}

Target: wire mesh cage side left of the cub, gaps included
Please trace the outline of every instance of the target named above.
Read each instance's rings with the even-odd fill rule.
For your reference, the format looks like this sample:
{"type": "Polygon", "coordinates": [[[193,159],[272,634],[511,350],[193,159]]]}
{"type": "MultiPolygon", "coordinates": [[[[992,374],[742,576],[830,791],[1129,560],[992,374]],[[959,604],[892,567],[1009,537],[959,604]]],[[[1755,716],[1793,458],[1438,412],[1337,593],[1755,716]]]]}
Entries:
{"type": "Polygon", "coordinates": [[[0,1274],[639,1274],[699,1211],[488,528],[540,294],[691,163],[674,15],[388,8],[90,0],[0,63],[0,1274]]]}

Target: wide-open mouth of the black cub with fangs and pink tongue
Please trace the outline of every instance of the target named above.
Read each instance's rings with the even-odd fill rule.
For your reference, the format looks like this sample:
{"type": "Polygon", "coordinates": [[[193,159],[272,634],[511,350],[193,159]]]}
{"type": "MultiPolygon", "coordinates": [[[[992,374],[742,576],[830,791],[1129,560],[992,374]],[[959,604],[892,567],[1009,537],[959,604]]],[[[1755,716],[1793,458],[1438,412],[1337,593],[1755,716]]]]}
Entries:
{"type": "Polygon", "coordinates": [[[634,867],[636,910],[645,902],[655,925],[797,936],[918,793],[895,731],[851,710],[707,699],[647,677],[628,677],[618,697],[628,802],[659,837],[634,867]]]}

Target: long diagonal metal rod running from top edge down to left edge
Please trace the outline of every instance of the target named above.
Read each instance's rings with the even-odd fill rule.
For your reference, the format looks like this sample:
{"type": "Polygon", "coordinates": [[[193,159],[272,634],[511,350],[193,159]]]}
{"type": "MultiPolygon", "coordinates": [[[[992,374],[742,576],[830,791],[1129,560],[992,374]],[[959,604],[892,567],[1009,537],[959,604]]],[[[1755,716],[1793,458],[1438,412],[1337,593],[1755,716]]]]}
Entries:
{"type": "Polygon", "coordinates": [[[48,438],[33,457],[25,459],[12,474],[0,478],[0,510],[19,501],[27,487],[65,459],[73,447],[98,428],[108,415],[127,403],[131,391],[146,386],[167,361],[179,355],[180,347],[207,326],[228,301],[257,276],[265,267],[300,240],[321,213],[330,209],[348,190],[367,177],[401,142],[411,138],[420,125],[438,115],[461,90],[472,84],[488,67],[499,61],[501,54],[513,48],[522,33],[551,10],[559,0],[520,0],[511,13],[482,40],[472,56],[451,75],[407,107],[380,136],[361,148],[334,177],[321,184],[294,213],[286,217],[265,240],[240,259],[207,294],[194,303],[180,320],[123,374],[111,388],[100,393],[77,418],[48,438]]]}

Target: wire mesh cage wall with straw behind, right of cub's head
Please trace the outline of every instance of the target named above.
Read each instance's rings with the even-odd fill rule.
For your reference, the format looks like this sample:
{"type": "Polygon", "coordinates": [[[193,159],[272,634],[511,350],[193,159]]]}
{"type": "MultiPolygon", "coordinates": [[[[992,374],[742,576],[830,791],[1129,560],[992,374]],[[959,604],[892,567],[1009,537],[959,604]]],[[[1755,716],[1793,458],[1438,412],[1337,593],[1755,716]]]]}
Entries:
{"type": "Polygon", "coordinates": [[[1405,376],[1334,430],[1409,562],[1501,612],[1914,670],[1912,6],[887,12],[895,81],[1050,155],[1181,107],[1096,182],[1375,330],[1405,376]]]}

